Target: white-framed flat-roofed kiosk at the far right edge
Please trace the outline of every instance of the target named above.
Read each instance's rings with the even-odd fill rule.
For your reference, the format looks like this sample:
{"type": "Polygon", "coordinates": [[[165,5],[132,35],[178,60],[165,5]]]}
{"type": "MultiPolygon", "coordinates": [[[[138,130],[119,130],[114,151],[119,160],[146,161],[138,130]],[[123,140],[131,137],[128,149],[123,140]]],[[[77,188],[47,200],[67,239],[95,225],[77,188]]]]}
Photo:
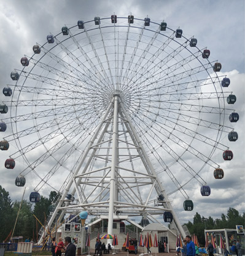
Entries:
{"type": "Polygon", "coordinates": [[[221,230],[204,230],[205,238],[208,243],[214,240],[215,244],[215,255],[224,255],[224,249],[222,248],[222,241],[225,248],[230,252],[231,255],[236,255],[236,252],[231,250],[231,247],[236,241],[241,244],[241,255],[245,255],[245,239],[244,230],[231,230],[231,229],[221,229],[221,230]]]}

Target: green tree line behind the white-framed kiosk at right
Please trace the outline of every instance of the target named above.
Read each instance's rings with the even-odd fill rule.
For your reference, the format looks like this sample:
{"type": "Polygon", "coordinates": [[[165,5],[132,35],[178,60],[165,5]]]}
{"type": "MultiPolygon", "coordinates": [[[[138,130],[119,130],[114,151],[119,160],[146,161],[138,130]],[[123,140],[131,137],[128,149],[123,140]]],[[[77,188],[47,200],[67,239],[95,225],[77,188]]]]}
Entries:
{"type": "Polygon", "coordinates": [[[187,226],[190,234],[196,234],[200,246],[204,247],[204,230],[220,230],[224,228],[236,229],[236,225],[244,225],[244,221],[245,212],[243,212],[243,215],[240,215],[238,210],[230,207],[227,210],[227,215],[221,214],[220,218],[216,218],[216,220],[214,220],[211,216],[208,218],[203,216],[201,217],[201,215],[196,212],[195,216],[193,217],[193,223],[188,222],[184,225],[187,226]]]}

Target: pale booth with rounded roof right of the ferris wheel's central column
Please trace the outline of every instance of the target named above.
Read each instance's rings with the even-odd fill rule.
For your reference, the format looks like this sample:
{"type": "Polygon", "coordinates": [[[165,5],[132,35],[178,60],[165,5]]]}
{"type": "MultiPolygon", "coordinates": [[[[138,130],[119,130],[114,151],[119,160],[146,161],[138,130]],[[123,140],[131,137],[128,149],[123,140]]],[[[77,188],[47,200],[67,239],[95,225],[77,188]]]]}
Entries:
{"type": "MultiPolygon", "coordinates": [[[[170,230],[163,224],[150,223],[142,229],[142,235],[144,238],[147,236],[147,233],[152,237],[152,244],[154,243],[155,234],[157,234],[157,241],[163,243],[166,242],[165,252],[176,249],[176,230],[170,230]]],[[[146,250],[145,247],[143,247],[143,249],[146,250]]],[[[152,254],[158,253],[158,247],[150,247],[150,251],[152,254]]]]}

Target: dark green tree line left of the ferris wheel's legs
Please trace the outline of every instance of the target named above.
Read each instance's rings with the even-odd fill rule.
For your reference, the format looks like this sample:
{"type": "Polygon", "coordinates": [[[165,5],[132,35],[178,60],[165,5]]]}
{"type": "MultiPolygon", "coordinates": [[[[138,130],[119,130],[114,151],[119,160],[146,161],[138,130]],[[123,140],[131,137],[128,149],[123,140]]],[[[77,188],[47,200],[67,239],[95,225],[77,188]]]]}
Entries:
{"type": "MultiPolygon", "coordinates": [[[[4,241],[7,236],[9,236],[11,230],[14,230],[13,236],[23,236],[24,239],[33,238],[34,241],[36,241],[41,223],[43,225],[47,220],[50,206],[56,194],[56,191],[51,191],[49,198],[41,196],[40,202],[36,204],[23,200],[14,230],[15,220],[21,202],[12,202],[9,192],[4,190],[0,185],[0,242],[4,241]],[[34,215],[39,221],[36,220],[34,215]]],[[[7,242],[9,242],[9,239],[7,242]]]]}

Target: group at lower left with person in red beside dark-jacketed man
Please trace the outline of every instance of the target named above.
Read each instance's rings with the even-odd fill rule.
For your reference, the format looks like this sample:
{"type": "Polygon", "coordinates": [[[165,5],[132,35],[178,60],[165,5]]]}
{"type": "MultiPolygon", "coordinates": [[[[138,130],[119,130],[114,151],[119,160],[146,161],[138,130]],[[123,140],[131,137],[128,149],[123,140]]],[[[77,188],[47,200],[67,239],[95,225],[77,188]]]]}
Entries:
{"type": "Polygon", "coordinates": [[[64,242],[62,238],[59,238],[59,242],[57,244],[55,238],[52,239],[51,251],[52,256],[61,256],[61,252],[64,249],[64,256],[76,256],[76,246],[72,244],[71,238],[67,236],[64,238],[64,242]]]}

